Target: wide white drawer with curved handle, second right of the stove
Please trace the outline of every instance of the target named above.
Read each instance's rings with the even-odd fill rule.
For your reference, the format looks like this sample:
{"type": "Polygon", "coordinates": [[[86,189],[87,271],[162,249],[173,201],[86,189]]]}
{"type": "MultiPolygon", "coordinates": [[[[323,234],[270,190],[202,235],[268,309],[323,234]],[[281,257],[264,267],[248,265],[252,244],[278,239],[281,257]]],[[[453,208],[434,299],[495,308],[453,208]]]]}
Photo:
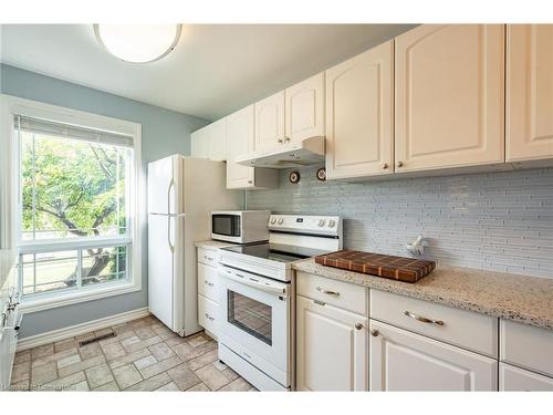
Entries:
{"type": "Polygon", "coordinates": [[[497,318],[378,290],[371,290],[371,318],[498,356],[497,318]]]}

